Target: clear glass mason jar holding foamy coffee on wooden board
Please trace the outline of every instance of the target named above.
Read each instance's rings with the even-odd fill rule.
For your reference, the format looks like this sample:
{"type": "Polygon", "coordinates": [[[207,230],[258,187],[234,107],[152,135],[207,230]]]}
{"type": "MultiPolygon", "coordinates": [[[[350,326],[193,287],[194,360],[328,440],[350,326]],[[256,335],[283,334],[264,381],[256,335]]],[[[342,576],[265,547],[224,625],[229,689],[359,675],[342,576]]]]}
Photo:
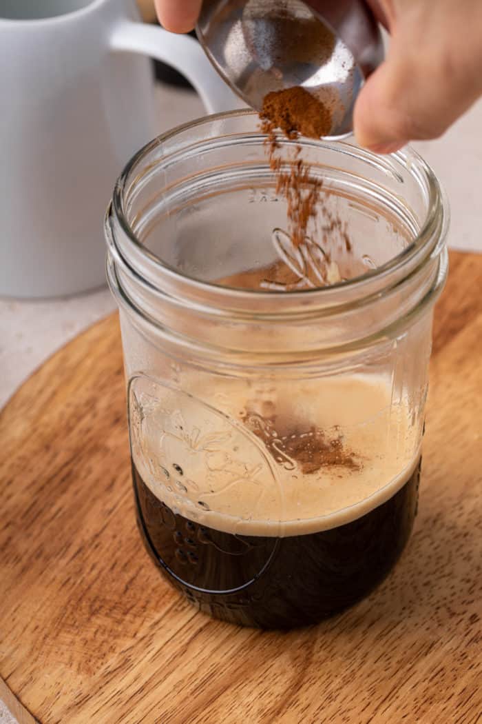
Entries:
{"type": "Polygon", "coordinates": [[[200,610],[264,628],[352,605],[405,547],[447,275],[416,153],[296,143],[324,188],[301,248],[249,111],[152,141],[106,216],[145,545],[200,610]]]}

